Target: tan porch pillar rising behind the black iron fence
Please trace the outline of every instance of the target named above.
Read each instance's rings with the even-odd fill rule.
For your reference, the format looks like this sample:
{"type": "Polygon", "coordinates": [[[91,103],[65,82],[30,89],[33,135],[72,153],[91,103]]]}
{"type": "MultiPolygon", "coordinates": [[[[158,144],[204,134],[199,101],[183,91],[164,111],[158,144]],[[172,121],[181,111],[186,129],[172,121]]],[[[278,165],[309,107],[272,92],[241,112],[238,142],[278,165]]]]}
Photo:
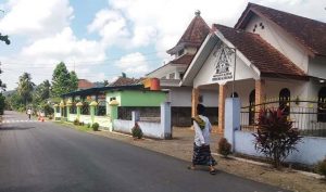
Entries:
{"type": "Polygon", "coordinates": [[[259,112],[261,110],[261,107],[263,107],[262,105],[258,105],[258,104],[262,104],[265,102],[266,99],[266,93],[265,93],[265,80],[264,79],[258,79],[254,81],[254,91],[255,91],[255,95],[254,95],[254,104],[255,106],[255,115],[254,118],[258,118],[259,112]]]}

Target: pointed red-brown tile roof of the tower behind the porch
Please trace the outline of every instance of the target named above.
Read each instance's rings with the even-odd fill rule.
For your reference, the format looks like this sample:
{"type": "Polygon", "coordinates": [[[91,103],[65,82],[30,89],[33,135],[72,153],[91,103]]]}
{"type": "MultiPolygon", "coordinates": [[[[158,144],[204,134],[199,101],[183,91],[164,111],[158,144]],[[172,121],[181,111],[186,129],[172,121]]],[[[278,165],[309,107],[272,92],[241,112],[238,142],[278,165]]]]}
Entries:
{"type": "Polygon", "coordinates": [[[178,43],[166,52],[168,54],[175,54],[178,50],[188,46],[199,48],[209,33],[209,25],[200,16],[200,12],[197,12],[178,43]]]}

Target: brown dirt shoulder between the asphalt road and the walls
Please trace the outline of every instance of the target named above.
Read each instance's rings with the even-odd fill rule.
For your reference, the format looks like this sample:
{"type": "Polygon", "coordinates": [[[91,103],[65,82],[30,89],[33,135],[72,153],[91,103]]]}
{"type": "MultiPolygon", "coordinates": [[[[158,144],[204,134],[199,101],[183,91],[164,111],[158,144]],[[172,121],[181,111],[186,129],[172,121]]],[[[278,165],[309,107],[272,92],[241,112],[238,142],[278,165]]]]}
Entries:
{"type": "MultiPolygon", "coordinates": [[[[87,130],[87,132],[120,140],[133,145],[174,156],[187,161],[189,164],[192,157],[193,130],[188,128],[174,129],[173,140],[134,140],[130,136],[109,131],[87,130]]],[[[213,153],[217,152],[218,138],[220,137],[216,133],[212,135],[211,150],[213,153]]],[[[236,159],[226,159],[217,155],[214,155],[214,157],[218,162],[216,168],[222,171],[272,185],[277,185],[296,192],[326,192],[325,180],[305,176],[294,170],[284,169],[280,171],[268,166],[254,165],[236,159]]],[[[186,167],[187,165],[185,165],[185,168],[186,167]]]]}

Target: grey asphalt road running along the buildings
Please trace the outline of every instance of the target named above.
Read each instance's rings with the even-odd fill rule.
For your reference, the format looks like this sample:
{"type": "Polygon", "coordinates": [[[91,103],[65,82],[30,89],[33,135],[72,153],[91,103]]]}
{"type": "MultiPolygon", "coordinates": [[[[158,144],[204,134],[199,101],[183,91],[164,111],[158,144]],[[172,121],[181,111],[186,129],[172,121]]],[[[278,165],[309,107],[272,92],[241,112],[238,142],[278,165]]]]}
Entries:
{"type": "MultiPolygon", "coordinates": [[[[53,123],[5,112],[0,125],[1,192],[280,192],[187,162],[53,123]]],[[[218,168],[218,166],[217,166],[218,168]]]]}

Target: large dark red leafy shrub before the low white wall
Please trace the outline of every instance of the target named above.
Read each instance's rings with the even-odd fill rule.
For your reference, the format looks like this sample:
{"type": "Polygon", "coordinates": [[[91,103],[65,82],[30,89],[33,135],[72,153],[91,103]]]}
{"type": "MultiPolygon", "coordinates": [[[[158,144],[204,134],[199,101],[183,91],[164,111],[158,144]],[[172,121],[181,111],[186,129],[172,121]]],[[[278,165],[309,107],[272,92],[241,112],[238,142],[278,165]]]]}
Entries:
{"type": "Polygon", "coordinates": [[[258,132],[253,133],[255,150],[271,158],[275,168],[279,168],[292,151],[298,151],[296,144],[302,139],[287,117],[279,108],[261,110],[258,132]]]}

